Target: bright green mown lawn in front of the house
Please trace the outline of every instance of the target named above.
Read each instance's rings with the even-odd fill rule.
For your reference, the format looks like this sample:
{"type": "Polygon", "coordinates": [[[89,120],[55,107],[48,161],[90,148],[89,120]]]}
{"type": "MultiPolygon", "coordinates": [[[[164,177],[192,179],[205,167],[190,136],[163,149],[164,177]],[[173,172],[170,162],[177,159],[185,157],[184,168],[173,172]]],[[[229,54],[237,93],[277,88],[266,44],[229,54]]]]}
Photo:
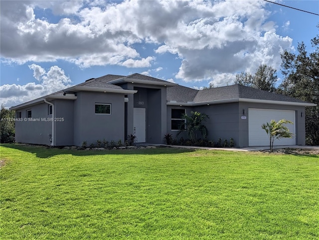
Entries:
{"type": "Polygon", "coordinates": [[[319,156],[2,144],[0,239],[318,240],[319,156]]]}

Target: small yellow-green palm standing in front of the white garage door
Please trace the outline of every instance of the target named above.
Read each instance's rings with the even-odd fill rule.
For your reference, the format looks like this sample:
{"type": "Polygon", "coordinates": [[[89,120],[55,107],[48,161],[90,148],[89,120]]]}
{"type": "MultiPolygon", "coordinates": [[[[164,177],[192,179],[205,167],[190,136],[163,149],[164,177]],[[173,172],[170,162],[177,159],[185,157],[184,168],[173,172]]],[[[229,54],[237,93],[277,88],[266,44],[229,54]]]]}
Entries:
{"type": "Polygon", "coordinates": [[[269,137],[269,148],[271,152],[273,152],[275,139],[292,138],[294,136],[294,133],[290,132],[289,128],[284,125],[288,123],[294,124],[292,121],[285,119],[279,120],[278,122],[271,120],[270,123],[262,124],[261,127],[266,131],[269,137]]]}

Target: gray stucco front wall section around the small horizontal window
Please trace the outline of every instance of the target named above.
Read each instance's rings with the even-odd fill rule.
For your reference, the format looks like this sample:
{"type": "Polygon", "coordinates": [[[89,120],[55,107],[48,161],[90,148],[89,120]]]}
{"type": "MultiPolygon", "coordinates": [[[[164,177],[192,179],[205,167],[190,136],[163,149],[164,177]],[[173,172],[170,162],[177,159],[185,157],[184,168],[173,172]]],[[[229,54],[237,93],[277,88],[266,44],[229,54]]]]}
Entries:
{"type": "Polygon", "coordinates": [[[124,143],[124,94],[78,92],[74,101],[74,145],[88,145],[96,140],[124,143]],[[95,103],[111,104],[111,115],[95,114],[95,103]]]}

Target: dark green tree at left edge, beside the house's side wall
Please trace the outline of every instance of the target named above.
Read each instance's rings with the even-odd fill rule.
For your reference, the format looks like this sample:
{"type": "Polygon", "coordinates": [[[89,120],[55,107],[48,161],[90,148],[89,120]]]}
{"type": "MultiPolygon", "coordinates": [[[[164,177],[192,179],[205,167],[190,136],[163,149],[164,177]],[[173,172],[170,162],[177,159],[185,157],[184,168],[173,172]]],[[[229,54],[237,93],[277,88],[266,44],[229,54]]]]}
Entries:
{"type": "Polygon", "coordinates": [[[10,111],[4,108],[4,105],[1,105],[0,109],[0,142],[14,142],[14,111],[10,111]]]}

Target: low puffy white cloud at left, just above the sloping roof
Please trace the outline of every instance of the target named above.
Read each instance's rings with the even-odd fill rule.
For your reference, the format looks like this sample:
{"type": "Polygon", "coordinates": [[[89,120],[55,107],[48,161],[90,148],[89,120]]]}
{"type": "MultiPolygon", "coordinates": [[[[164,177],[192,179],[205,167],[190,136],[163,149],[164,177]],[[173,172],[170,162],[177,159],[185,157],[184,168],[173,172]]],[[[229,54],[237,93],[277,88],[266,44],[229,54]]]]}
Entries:
{"type": "Polygon", "coordinates": [[[70,78],[58,66],[52,66],[48,71],[36,64],[30,65],[29,68],[33,70],[33,76],[39,83],[0,86],[0,101],[5,107],[16,106],[71,86],[70,78]]]}

